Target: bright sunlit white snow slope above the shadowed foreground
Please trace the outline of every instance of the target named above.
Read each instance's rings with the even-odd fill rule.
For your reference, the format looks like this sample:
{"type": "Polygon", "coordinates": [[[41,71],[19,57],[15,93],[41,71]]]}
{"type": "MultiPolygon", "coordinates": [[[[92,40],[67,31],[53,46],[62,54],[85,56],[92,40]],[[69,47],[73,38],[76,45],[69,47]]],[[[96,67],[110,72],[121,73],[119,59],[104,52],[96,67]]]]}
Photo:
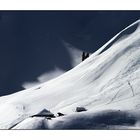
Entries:
{"type": "MultiPolygon", "coordinates": [[[[0,97],[0,128],[12,128],[44,108],[53,113],[65,113],[68,119],[77,115],[77,106],[84,106],[88,109],[85,113],[90,114],[103,110],[133,111],[137,114],[140,109],[139,83],[140,20],[58,78],[0,97]]],[[[34,122],[32,119],[31,122],[34,122]]],[[[53,119],[50,124],[53,121],[59,122],[59,118],[53,119]]]]}

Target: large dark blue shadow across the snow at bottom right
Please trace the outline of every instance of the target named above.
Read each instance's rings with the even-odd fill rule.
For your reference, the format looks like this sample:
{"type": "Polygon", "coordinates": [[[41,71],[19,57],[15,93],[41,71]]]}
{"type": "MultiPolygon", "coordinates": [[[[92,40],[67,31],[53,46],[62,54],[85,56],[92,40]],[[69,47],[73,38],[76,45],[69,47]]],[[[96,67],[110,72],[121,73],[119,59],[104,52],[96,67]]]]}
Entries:
{"type": "Polygon", "coordinates": [[[136,117],[125,111],[81,113],[81,115],[56,122],[52,129],[112,129],[114,126],[134,126],[136,121],[136,117]]]}

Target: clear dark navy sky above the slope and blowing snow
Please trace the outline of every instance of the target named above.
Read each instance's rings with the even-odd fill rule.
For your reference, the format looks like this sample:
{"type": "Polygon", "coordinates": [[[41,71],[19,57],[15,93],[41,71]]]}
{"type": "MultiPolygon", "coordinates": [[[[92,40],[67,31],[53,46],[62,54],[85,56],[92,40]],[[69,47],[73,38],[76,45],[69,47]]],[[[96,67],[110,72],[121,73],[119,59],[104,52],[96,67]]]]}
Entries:
{"type": "Polygon", "coordinates": [[[72,68],[63,40],[93,53],[139,11],[0,11],[0,96],[55,67],[72,68]]]}

